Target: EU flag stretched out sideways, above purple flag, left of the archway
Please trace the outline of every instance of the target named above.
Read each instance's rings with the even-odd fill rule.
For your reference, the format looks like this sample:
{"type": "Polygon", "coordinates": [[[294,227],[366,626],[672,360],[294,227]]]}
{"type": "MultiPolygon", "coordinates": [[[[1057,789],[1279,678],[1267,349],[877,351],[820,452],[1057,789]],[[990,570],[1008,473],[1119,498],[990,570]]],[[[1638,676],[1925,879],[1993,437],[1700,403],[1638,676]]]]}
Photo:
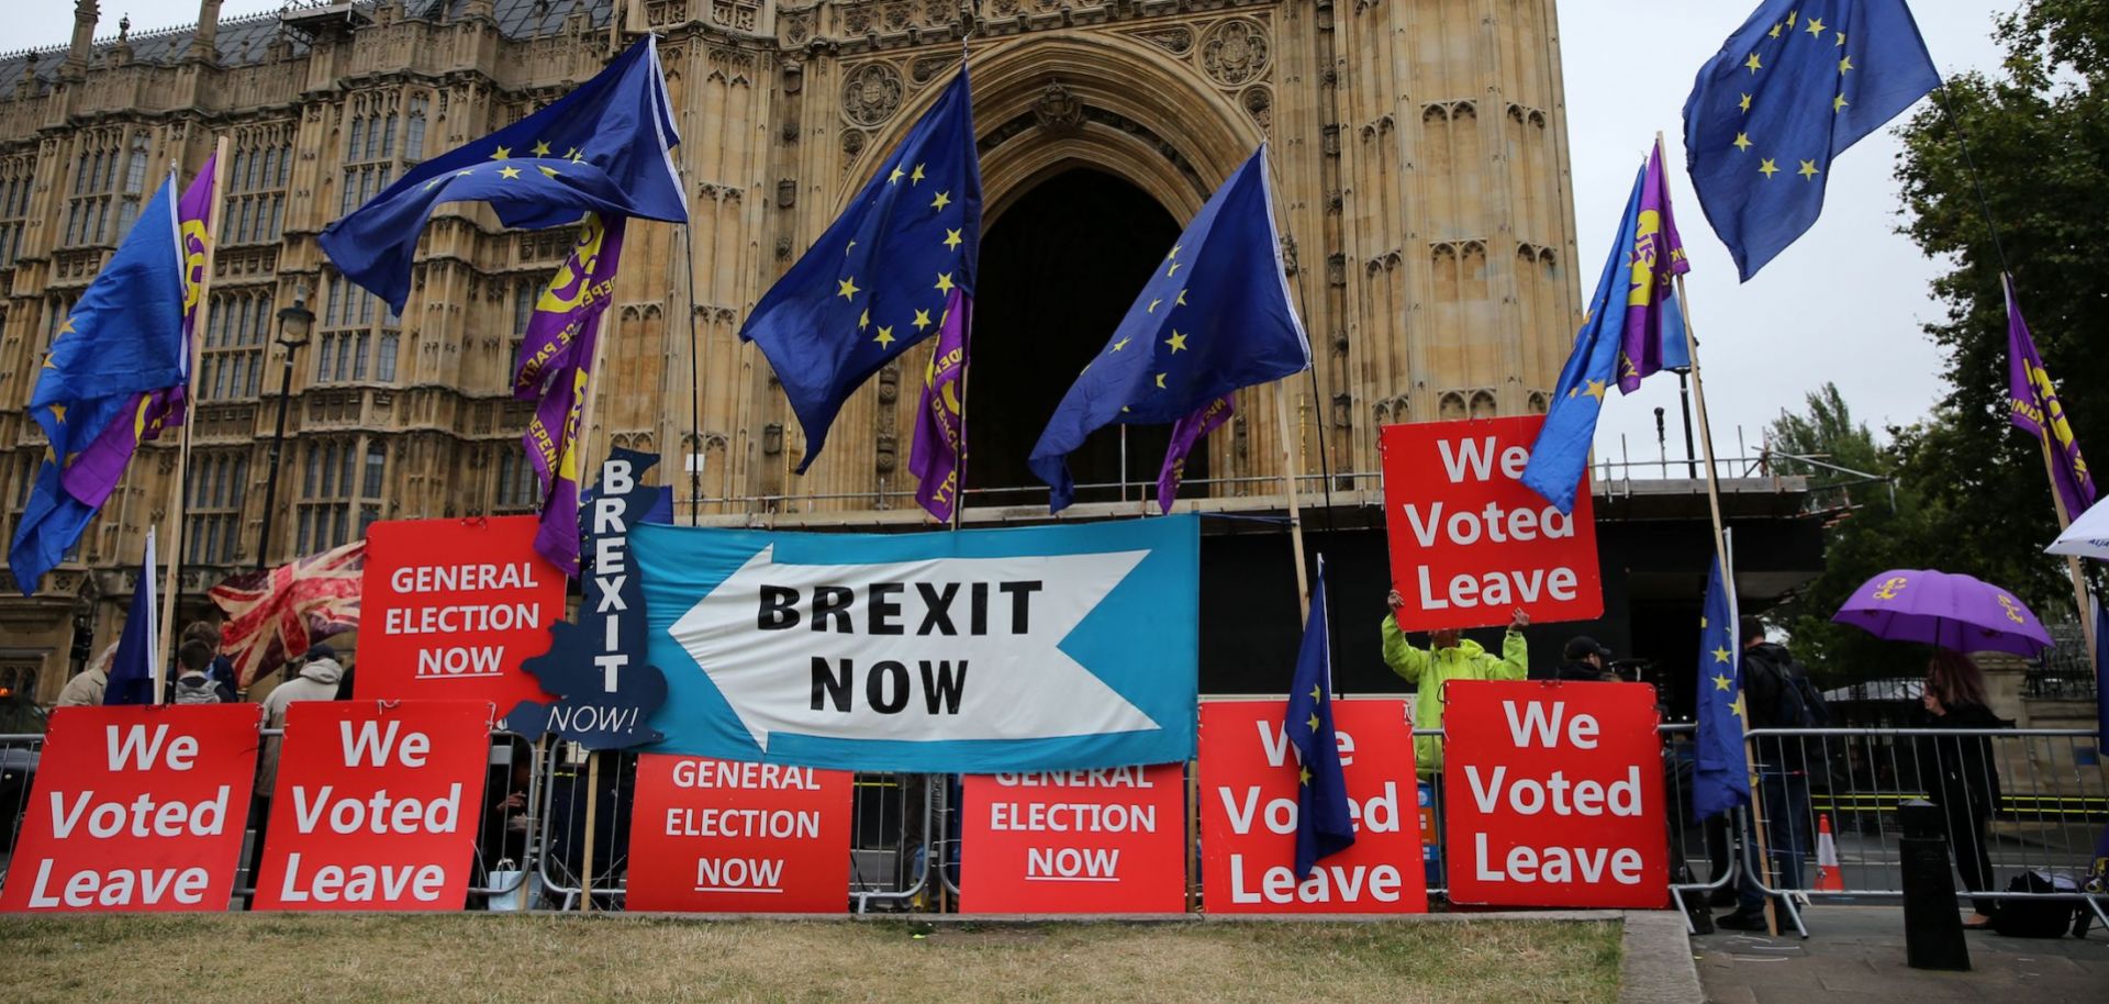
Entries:
{"type": "Polygon", "coordinates": [[[654,36],[548,108],[403,173],[316,238],[344,278],[403,312],[418,234],[441,202],[489,202],[508,228],[607,217],[688,219],[654,36]]]}

